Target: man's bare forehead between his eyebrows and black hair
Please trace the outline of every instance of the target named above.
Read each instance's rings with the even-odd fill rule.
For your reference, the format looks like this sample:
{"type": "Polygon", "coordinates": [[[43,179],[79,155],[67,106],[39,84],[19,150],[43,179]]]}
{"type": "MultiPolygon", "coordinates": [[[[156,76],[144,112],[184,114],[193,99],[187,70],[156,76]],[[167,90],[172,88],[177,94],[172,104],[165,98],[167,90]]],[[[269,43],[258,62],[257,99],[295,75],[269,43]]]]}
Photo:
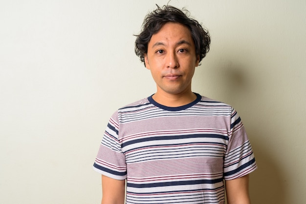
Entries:
{"type": "Polygon", "coordinates": [[[149,46],[158,41],[163,43],[171,43],[182,40],[189,42],[190,44],[194,44],[188,27],[181,23],[167,22],[157,33],[152,35],[149,41],[149,46]]]}

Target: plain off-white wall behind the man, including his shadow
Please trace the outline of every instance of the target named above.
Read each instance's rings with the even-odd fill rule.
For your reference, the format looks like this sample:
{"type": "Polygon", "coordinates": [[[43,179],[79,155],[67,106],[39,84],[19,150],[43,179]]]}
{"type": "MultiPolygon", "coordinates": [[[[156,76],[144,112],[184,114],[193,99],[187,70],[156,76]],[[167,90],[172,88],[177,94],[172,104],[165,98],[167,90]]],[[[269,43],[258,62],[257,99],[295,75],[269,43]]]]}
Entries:
{"type": "MultiPolygon", "coordinates": [[[[0,1],[0,203],[98,204],[110,115],[155,91],[134,54],[168,0],[0,1]]],[[[211,34],[193,91],[239,112],[252,204],[306,201],[306,1],[172,0],[211,34]]]]}

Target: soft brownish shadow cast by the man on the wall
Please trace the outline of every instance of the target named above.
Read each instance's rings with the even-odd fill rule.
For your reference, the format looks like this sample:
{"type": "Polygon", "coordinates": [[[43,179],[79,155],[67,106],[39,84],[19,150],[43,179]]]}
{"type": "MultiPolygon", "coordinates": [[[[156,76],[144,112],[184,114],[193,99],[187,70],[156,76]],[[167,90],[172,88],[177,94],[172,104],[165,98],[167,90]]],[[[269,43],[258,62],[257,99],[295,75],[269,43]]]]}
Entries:
{"type": "MultiPolygon", "coordinates": [[[[218,92],[218,100],[239,108],[241,111],[238,112],[243,113],[242,121],[248,121],[246,131],[258,165],[258,169],[250,174],[252,204],[289,204],[286,181],[284,181],[285,174],[278,162],[274,160],[276,153],[265,141],[265,139],[271,137],[269,134],[273,134],[273,130],[265,128],[273,127],[265,126],[258,129],[262,118],[269,118],[269,116],[264,115],[265,113],[260,110],[254,110],[254,108],[260,108],[259,104],[262,105],[264,94],[262,93],[262,87],[258,87],[259,82],[256,82],[258,79],[248,77],[250,73],[246,73],[245,70],[249,71],[251,69],[238,63],[224,61],[224,63],[219,63],[217,67],[207,71],[210,79],[218,79],[218,82],[208,83],[218,84],[219,87],[215,89],[218,92]]],[[[271,138],[269,141],[271,141],[271,138]]]]}

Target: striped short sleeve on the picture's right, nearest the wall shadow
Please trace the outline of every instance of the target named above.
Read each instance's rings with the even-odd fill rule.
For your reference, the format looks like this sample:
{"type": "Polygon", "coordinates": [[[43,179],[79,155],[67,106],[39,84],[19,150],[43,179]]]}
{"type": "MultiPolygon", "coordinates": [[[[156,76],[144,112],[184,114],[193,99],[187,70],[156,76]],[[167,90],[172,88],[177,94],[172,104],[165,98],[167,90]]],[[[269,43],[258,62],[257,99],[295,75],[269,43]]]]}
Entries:
{"type": "Polygon", "coordinates": [[[251,143],[240,116],[233,108],[223,168],[225,180],[240,178],[257,168],[251,143]]]}

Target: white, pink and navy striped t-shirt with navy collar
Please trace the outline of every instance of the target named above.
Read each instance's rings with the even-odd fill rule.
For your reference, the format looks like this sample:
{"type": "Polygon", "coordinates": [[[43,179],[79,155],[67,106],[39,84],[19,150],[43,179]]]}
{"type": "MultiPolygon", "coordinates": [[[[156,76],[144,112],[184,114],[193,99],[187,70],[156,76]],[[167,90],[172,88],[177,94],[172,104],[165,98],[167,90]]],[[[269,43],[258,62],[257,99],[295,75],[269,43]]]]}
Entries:
{"type": "Polygon", "coordinates": [[[257,168],[239,115],[202,97],[167,107],[151,97],[110,118],[94,169],[127,179],[127,204],[223,204],[223,180],[257,168]]]}

